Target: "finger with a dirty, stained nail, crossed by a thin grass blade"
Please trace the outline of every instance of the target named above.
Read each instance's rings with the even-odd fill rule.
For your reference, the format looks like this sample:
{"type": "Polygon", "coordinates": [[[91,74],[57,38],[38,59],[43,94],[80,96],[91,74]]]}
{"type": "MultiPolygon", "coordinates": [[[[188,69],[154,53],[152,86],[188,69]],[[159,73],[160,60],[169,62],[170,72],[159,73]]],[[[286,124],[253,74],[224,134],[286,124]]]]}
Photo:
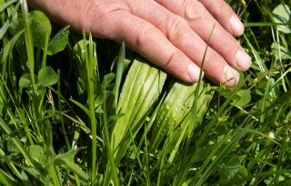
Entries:
{"type": "MultiPolygon", "coordinates": [[[[154,24],[163,32],[163,34],[166,35],[167,39],[174,44],[176,48],[186,54],[186,56],[188,56],[194,63],[198,65],[201,64],[203,55],[206,51],[206,43],[192,30],[184,18],[173,14],[155,1],[139,1],[138,6],[136,7],[143,7],[143,9],[134,7],[132,8],[133,14],[145,19],[151,24],[154,24]]],[[[210,31],[211,29],[212,28],[210,27],[210,31]]],[[[226,31],[224,32],[226,33],[226,31]]],[[[209,35],[207,36],[209,37],[209,35]]],[[[232,38],[231,35],[230,38],[232,38]]],[[[233,39],[233,42],[233,45],[235,45],[237,49],[239,45],[236,43],[235,39],[233,39]]],[[[234,47],[233,45],[231,47],[234,47]]],[[[231,49],[233,50],[233,48],[231,49]]],[[[224,50],[226,51],[227,49],[224,50]]],[[[231,69],[231,67],[226,63],[226,60],[220,54],[217,54],[216,50],[212,48],[209,48],[207,51],[204,72],[209,79],[216,83],[227,82],[227,86],[234,86],[239,79],[238,73],[231,69]],[[229,79],[232,81],[226,81],[229,79]]]]}

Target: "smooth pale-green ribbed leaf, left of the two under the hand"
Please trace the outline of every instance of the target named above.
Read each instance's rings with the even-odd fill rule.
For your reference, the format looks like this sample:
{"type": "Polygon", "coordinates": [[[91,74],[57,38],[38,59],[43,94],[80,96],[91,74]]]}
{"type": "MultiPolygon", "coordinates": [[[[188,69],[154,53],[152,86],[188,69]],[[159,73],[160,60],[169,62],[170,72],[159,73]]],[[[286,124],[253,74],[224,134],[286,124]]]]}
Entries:
{"type": "Polygon", "coordinates": [[[125,115],[116,121],[112,134],[111,142],[117,164],[143,125],[146,115],[152,110],[165,80],[166,73],[151,64],[137,60],[132,64],[117,105],[117,113],[125,115]]]}

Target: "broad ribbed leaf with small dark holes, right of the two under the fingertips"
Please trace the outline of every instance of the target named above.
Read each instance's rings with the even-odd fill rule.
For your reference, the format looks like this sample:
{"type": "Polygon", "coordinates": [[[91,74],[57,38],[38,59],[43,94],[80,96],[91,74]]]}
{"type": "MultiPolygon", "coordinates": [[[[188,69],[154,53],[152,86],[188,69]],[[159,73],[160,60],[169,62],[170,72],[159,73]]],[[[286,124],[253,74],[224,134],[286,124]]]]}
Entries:
{"type": "MultiPolygon", "coordinates": [[[[184,131],[184,127],[188,125],[189,118],[186,118],[186,116],[190,113],[195,100],[196,85],[186,85],[183,83],[175,83],[173,85],[156,116],[156,126],[151,137],[151,152],[156,150],[166,136],[166,133],[172,133],[173,137],[176,136],[175,142],[181,137],[180,134],[184,131]],[[187,121],[184,122],[185,120],[187,121]],[[183,125],[182,122],[184,123],[183,125]]],[[[202,120],[203,115],[206,113],[207,105],[212,98],[212,93],[203,92],[199,94],[200,96],[196,101],[198,102],[196,123],[202,120]]]]}

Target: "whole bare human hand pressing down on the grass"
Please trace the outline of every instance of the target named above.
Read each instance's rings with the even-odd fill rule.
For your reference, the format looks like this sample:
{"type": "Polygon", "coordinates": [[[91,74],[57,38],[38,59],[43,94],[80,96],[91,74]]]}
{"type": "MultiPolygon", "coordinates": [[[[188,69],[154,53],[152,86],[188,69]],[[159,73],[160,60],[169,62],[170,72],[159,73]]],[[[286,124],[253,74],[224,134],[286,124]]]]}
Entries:
{"type": "Polygon", "coordinates": [[[237,43],[244,25],[224,0],[27,0],[60,24],[95,37],[124,41],[152,63],[186,82],[204,73],[235,86],[251,58],[237,43]],[[211,31],[213,30],[211,34],[211,31]]]}

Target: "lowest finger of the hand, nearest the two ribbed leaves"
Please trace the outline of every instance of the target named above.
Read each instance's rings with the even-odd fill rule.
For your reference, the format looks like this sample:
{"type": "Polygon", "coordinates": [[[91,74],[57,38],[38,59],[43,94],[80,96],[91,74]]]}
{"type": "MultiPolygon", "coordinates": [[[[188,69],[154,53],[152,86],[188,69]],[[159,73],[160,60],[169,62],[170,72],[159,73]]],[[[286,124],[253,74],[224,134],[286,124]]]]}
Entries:
{"type": "Polygon", "coordinates": [[[198,81],[199,67],[153,24],[127,12],[118,13],[117,16],[115,40],[125,41],[127,46],[184,82],[198,81]]]}

